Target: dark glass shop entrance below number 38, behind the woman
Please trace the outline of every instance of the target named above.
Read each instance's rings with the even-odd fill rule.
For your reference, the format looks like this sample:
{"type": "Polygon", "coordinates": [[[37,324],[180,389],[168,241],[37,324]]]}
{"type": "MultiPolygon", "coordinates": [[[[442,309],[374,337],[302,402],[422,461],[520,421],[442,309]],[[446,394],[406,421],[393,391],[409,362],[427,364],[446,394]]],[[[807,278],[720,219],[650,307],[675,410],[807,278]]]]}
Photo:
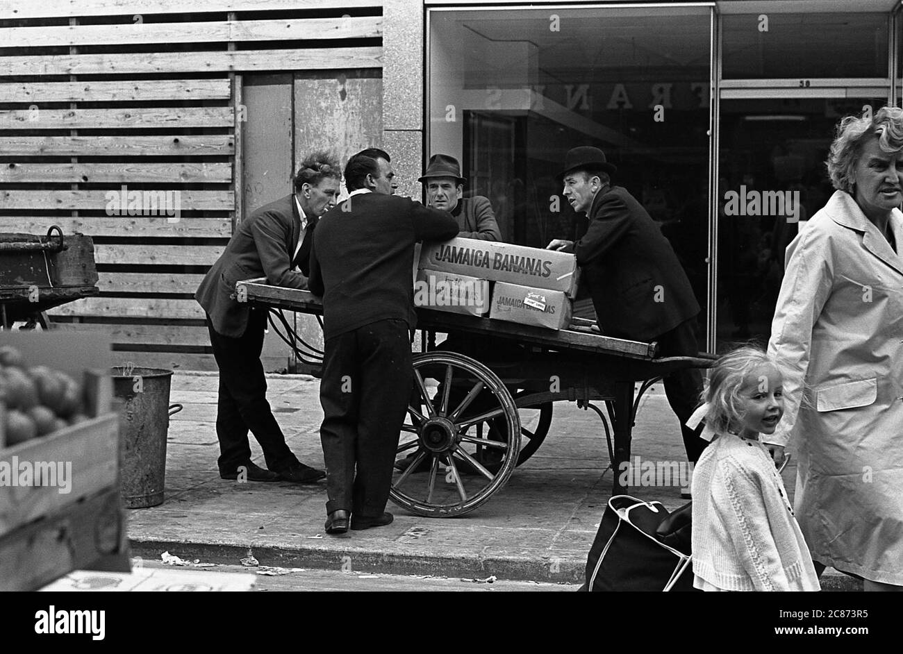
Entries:
{"type": "Polygon", "coordinates": [[[721,101],[717,343],[768,341],[785,250],[833,195],[824,162],[838,121],[887,97],[721,101]]]}

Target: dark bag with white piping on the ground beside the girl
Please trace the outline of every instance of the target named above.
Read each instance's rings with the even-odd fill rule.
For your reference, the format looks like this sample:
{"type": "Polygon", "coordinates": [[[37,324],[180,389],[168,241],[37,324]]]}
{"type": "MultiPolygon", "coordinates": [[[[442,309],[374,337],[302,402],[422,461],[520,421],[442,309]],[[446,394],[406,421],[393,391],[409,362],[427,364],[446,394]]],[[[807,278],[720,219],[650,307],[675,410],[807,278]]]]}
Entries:
{"type": "Polygon", "coordinates": [[[656,537],[671,516],[661,502],[615,495],[602,514],[586,561],[592,591],[694,591],[687,552],[656,537]]]}

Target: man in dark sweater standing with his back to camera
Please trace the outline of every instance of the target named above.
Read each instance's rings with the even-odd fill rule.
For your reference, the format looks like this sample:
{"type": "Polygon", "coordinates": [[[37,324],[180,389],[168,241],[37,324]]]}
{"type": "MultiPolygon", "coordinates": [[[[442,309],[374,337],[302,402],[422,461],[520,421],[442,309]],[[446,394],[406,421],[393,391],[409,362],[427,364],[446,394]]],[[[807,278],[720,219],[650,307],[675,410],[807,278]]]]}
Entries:
{"type": "Polygon", "coordinates": [[[350,197],[321,218],[311,248],[308,288],[323,299],[320,438],[330,534],[392,521],[386,502],[413,384],[414,243],[458,234],[448,212],[391,195],[391,164],[378,154],[349,159],[350,197]]]}

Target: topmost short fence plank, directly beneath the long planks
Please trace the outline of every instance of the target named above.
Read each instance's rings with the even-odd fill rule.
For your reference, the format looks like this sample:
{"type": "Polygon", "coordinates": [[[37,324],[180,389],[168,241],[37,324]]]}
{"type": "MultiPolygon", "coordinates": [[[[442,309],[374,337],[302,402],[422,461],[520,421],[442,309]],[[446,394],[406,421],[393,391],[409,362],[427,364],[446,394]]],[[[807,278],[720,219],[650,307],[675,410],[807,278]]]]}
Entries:
{"type": "Polygon", "coordinates": [[[4,102],[131,102],[135,100],[219,100],[232,97],[222,79],[116,79],[91,82],[0,84],[4,102]]]}

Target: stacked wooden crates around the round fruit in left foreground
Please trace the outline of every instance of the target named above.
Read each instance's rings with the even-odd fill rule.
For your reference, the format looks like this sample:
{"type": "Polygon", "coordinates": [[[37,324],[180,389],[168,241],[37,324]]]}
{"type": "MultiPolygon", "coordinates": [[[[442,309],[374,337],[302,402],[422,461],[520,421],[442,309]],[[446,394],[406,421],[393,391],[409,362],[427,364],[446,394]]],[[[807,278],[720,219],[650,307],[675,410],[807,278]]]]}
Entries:
{"type": "Polygon", "coordinates": [[[88,415],[47,436],[0,445],[0,474],[3,466],[15,474],[0,483],[0,591],[35,590],[76,569],[130,570],[108,337],[4,331],[0,345],[18,348],[29,366],[83,378],[88,415]],[[23,464],[34,471],[25,485],[23,464]]]}

